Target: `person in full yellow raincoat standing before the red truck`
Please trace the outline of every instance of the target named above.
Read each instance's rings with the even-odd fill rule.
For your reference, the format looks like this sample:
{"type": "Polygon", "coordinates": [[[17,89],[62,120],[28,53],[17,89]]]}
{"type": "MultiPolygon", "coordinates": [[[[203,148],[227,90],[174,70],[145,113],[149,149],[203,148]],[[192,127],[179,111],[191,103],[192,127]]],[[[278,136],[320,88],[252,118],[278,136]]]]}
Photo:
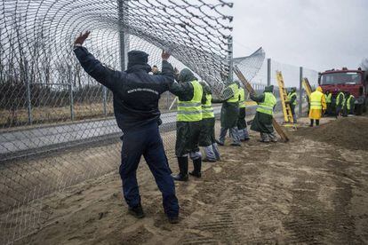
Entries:
{"type": "Polygon", "coordinates": [[[324,111],[326,109],[326,99],[324,98],[323,90],[320,86],[316,88],[316,91],[310,94],[310,108],[309,108],[309,119],[310,127],[313,127],[314,121],[316,120],[316,126],[319,125],[324,111]]]}

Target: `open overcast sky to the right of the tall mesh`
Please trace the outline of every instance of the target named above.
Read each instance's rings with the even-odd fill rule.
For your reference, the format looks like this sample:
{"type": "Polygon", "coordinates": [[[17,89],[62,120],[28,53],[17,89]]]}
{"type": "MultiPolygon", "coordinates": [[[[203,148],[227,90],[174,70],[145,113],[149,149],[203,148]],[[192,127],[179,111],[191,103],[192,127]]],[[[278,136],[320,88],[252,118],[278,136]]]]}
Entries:
{"type": "Polygon", "coordinates": [[[356,68],[368,57],[368,0],[234,0],[234,52],[262,46],[279,62],[356,68]]]}

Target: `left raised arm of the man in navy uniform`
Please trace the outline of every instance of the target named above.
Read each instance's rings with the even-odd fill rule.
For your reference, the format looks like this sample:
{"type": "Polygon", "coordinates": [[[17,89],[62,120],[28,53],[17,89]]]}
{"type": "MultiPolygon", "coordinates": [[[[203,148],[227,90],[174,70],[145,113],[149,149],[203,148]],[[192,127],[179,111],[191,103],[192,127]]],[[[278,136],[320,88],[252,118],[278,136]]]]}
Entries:
{"type": "Polygon", "coordinates": [[[90,34],[90,31],[86,31],[84,34],[81,33],[76,37],[76,41],[74,42],[74,53],[76,54],[76,59],[79,60],[88,75],[91,75],[97,82],[105,85],[111,91],[116,91],[122,84],[117,83],[116,81],[121,82],[123,79],[122,76],[124,76],[125,73],[104,67],[98,59],[94,58],[92,53],[83,47],[85,39],[87,39],[90,34]]]}

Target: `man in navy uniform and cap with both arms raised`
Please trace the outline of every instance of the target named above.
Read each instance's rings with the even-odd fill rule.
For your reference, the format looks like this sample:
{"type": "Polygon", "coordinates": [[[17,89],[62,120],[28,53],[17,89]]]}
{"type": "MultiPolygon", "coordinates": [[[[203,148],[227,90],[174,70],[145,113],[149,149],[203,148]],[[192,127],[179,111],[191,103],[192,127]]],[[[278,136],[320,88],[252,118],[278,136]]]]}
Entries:
{"type": "Polygon", "coordinates": [[[127,70],[115,71],[104,67],[82,46],[89,34],[86,32],[76,38],[74,52],[84,70],[113,92],[116,122],[124,133],[119,172],[129,213],[135,217],[144,217],[136,178],[140,157],[143,155],[163,194],[164,212],[169,222],[177,223],[178,199],[158,130],[161,123],[158,99],[174,81],[172,65],[167,62],[170,54],[163,51],[162,75],[148,75],[151,67],[148,65],[148,54],[143,51],[128,52],[127,70]]]}

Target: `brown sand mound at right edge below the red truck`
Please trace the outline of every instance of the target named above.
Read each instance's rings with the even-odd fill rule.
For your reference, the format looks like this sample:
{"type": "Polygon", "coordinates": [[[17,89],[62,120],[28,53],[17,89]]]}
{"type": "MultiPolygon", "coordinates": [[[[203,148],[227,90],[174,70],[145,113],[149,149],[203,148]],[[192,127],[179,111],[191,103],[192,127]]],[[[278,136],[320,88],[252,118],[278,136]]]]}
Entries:
{"type": "Polygon", "coordinates": [[[351,150],[368,150],[368,117],[339,118],[319,127],[300,129],[295,135],[351,150]]]}

